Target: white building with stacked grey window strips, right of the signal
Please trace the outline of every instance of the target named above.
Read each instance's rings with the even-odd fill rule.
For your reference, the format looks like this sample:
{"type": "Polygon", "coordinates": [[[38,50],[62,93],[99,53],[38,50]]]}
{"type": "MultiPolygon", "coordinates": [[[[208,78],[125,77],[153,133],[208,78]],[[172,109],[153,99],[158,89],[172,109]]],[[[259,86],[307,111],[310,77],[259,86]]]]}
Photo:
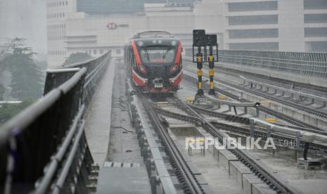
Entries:
{"type": "Polygon", "coordinates": [[[327,51],[326,0],[225,0],[225,48],[327,51]]]}

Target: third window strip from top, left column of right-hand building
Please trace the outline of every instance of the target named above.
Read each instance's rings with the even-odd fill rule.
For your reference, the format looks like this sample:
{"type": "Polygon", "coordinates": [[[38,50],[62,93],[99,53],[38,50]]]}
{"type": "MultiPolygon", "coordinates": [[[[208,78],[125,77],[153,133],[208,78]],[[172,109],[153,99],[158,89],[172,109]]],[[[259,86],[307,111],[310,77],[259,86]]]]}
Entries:
{"type": "Polygon", "coordinates": [[[257,39],[257,38],[276,38],[276,37],[278,37],[278,28],[229,30],[230,39],[257,39]]]}

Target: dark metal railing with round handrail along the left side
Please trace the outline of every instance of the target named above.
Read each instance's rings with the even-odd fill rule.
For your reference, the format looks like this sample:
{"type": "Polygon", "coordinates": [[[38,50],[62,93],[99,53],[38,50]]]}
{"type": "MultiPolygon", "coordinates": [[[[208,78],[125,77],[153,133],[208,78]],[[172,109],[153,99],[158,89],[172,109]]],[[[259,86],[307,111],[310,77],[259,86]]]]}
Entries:
{"type": "Polygon", "coordinates": [[[49,70],[44,97],[0,128],[0,193],[89,192],[83,114],[110,58],[49,70]]]}

